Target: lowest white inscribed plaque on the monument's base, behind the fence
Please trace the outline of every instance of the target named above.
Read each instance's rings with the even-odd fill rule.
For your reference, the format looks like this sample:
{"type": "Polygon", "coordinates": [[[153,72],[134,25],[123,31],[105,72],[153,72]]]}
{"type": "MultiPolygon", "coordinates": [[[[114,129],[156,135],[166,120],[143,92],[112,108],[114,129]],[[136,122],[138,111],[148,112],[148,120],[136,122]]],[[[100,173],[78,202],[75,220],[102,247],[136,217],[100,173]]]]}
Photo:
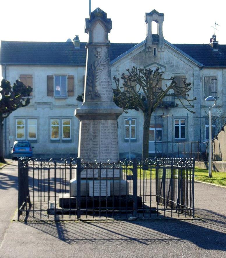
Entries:
{"type": "Polygon", "coordinates": [[[95,180],[89,182],[89,196],[110,196],[110,182],[95,180]]]}

